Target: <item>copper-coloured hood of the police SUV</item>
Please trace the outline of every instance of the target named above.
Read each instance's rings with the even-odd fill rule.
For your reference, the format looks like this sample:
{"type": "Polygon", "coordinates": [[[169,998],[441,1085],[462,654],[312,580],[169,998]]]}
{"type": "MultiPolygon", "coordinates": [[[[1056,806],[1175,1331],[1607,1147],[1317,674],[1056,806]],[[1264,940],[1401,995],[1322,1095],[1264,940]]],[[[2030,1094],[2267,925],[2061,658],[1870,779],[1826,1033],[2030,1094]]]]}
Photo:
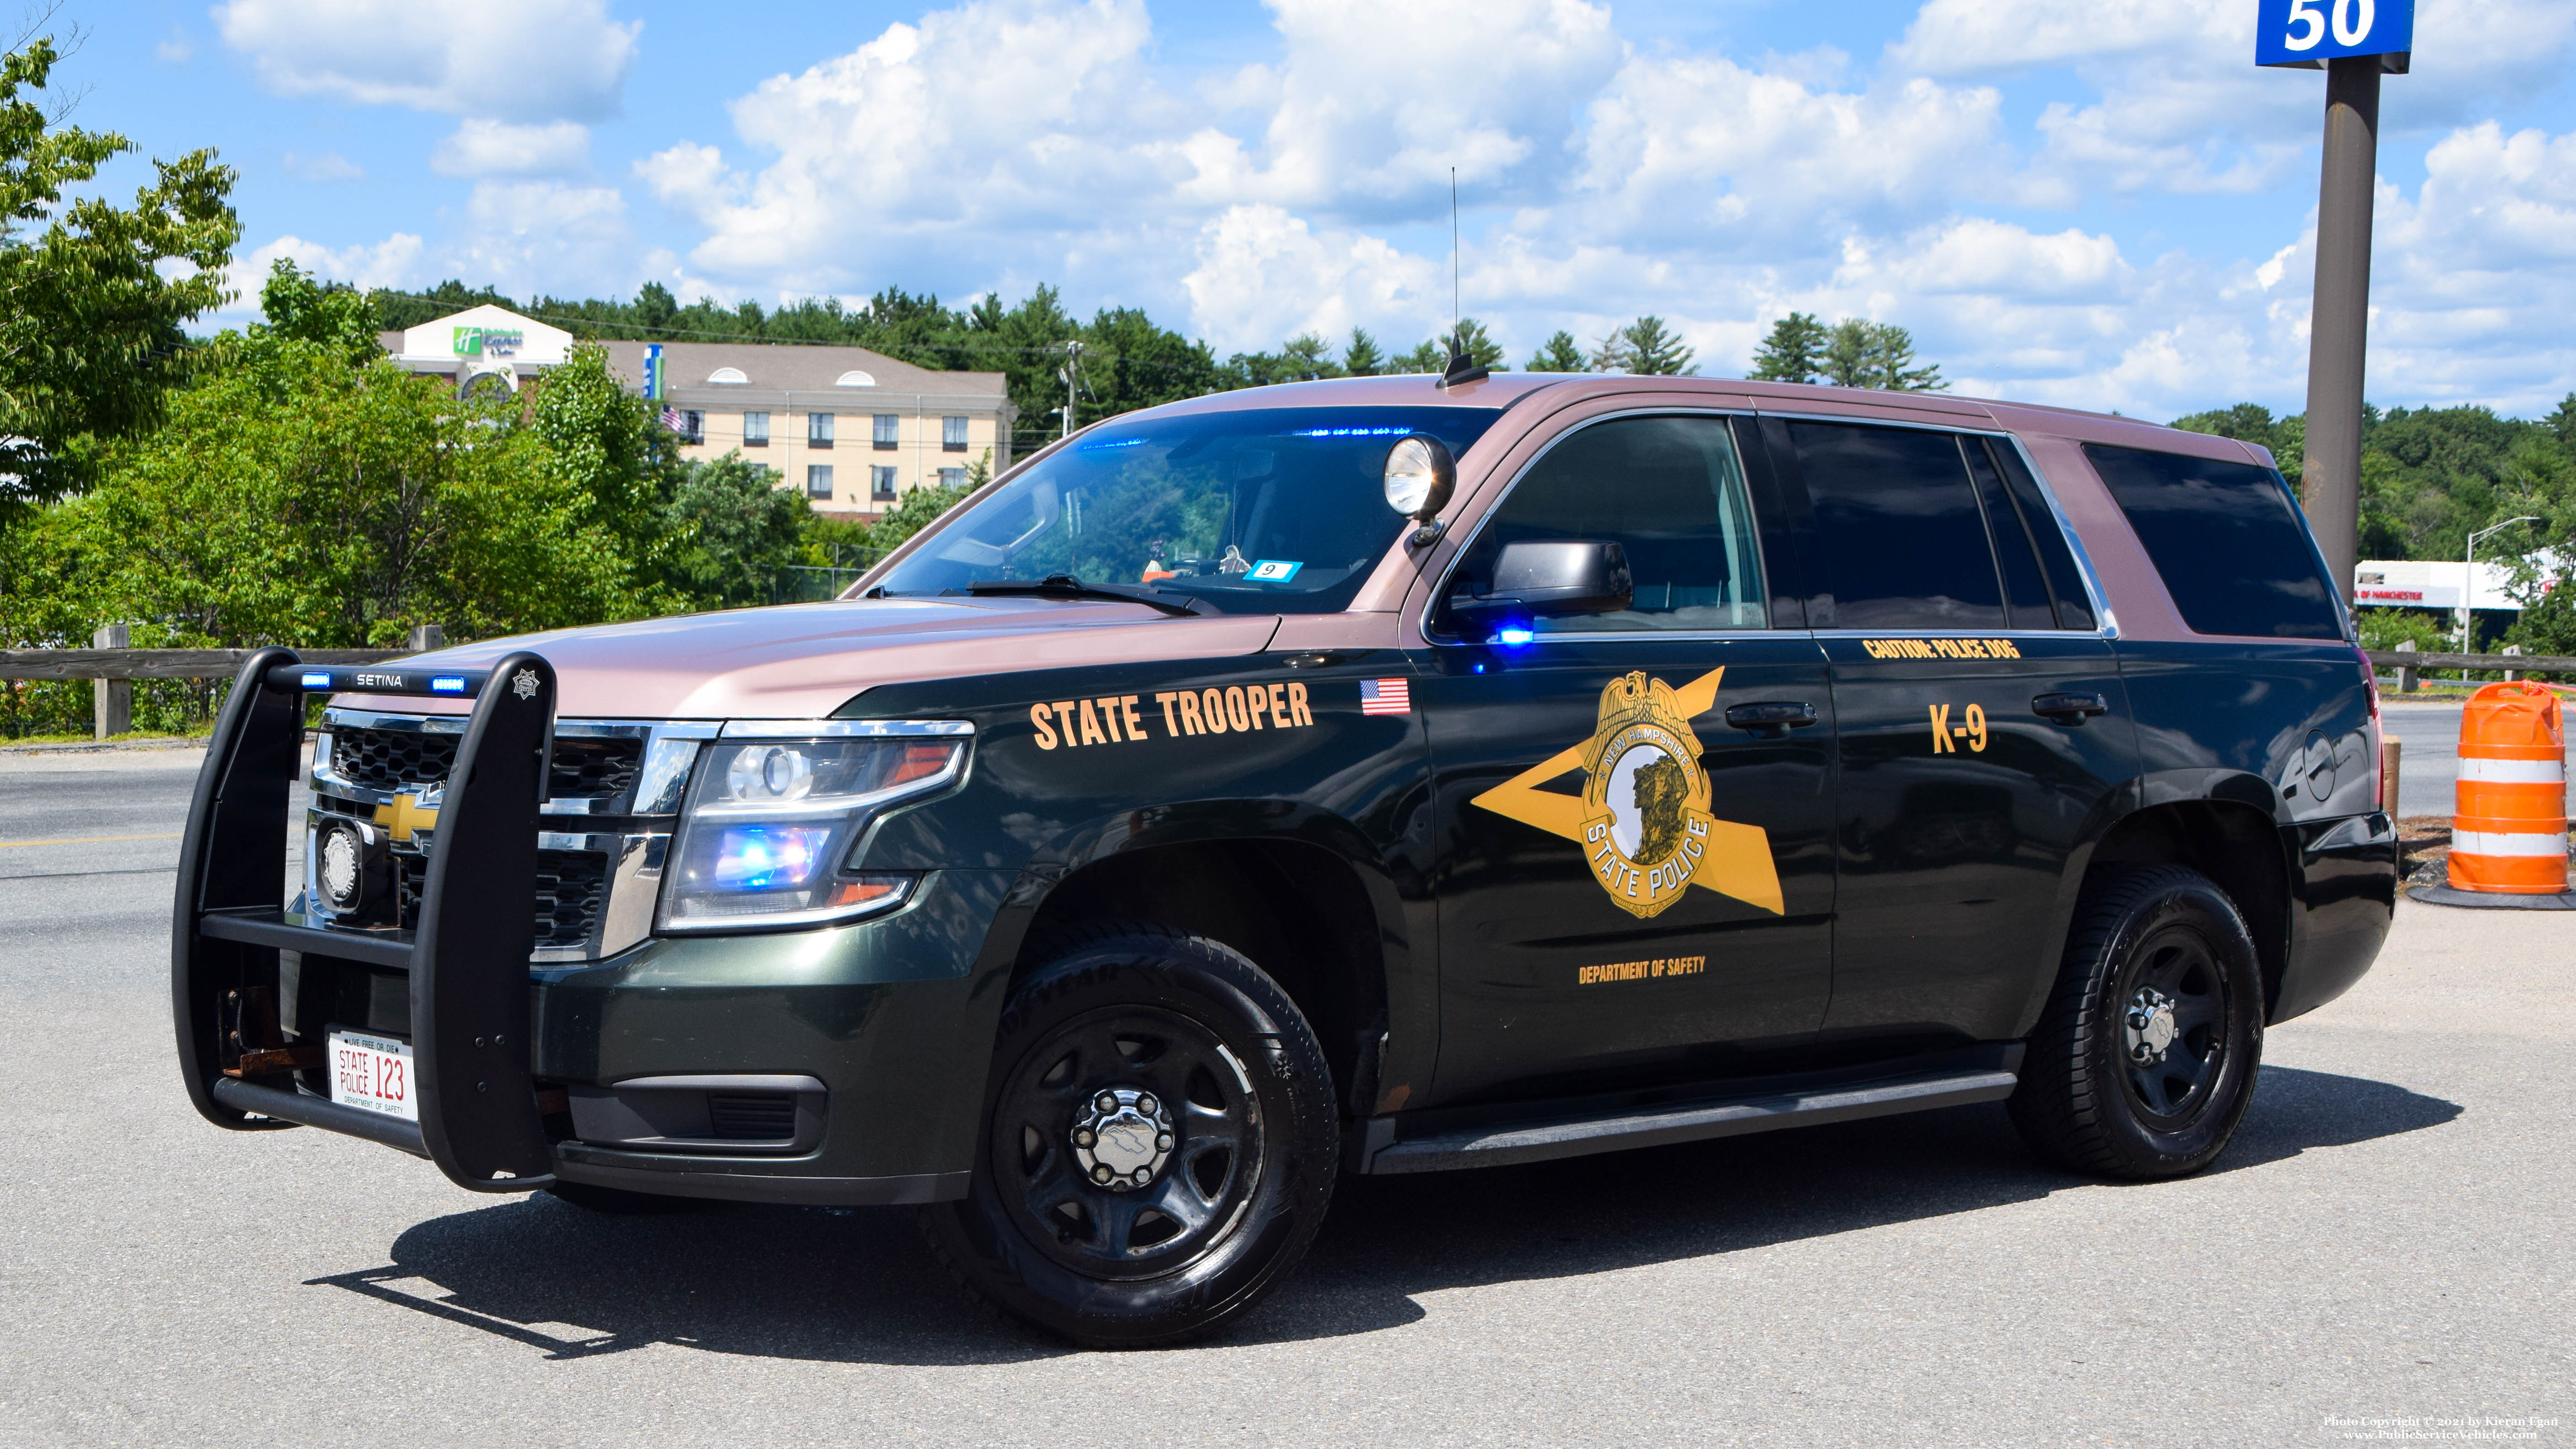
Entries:
{"type": "MultiPolygon", "coordinates": [[[[1172,618],[1090,600],[832,600],[487,638],[420,654],[420,669],[546,656],[562,718],[824,718],[863,690],[958,674],[1260,654],[1278,615],[1172,618]]],[[[335,703],[386,708],[384,695],[335,703]]],[[[466,713],[417,700],[404,713],[466,713]]]]}

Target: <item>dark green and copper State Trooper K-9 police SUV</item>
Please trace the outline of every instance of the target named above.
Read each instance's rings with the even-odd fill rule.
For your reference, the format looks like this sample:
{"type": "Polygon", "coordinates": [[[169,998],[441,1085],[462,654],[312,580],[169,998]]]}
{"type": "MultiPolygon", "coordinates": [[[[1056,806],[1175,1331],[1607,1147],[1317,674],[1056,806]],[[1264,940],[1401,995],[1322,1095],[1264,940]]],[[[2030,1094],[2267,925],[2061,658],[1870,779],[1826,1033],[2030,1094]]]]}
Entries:
{"type": "Polygon", "coordinates": [[[1157,1343],[1337,1174],[1968,1102],[2197,1171],[2380,950],[2375,775],[2259,448],[1273,386],[1059,440],[835,602],[250,659],[178,1048],[222,1127],[477,1192],[920,1204],[969,1292],[1157,1343]]]}

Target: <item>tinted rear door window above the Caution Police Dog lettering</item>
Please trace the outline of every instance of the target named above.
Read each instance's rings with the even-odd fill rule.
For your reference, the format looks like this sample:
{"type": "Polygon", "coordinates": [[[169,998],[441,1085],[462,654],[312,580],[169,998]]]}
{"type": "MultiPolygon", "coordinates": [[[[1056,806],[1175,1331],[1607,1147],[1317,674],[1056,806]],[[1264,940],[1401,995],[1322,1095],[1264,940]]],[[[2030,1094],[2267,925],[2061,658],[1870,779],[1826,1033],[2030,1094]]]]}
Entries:
{"type": "Polygon", "coordinates": [[[1826,628],[2004,628],[1986,520],[1958,438],[1790,422],[1824,543],[1826,628]]]}

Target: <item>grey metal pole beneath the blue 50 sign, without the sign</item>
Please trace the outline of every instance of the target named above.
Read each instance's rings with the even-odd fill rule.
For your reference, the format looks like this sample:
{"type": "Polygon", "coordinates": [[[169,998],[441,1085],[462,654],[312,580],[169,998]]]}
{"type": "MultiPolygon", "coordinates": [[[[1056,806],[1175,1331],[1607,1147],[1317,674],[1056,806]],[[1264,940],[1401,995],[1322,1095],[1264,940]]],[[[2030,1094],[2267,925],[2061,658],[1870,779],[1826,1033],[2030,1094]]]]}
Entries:
{"type": "Polygon", "coordinates": [[[2326,69],[2326,165],[2316,190],[2316,301],[2308,311],[2308,461],[2298,494],[2326,566],[2347,587],[2362,533],[2362,360],[2370,345],[2370,190],[2380,160],[2380,59],[2326,69]]]}

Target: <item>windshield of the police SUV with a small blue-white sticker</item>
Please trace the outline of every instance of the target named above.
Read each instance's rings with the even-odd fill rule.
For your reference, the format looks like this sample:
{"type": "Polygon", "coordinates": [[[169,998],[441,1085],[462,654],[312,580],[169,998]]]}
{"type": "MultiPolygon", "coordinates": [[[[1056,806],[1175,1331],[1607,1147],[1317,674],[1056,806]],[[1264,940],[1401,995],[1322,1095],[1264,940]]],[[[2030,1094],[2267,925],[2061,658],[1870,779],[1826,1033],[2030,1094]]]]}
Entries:
{"type": "Polygon", "coordinates": [[[1203,597],[1226,613],[1350,605],[1406,520],[1386,450],[1427,432],[1466,453],[1499,409],[1280,407],[1105,422],[945,520],[889,595],[1072,574],[1203,597]]]}

